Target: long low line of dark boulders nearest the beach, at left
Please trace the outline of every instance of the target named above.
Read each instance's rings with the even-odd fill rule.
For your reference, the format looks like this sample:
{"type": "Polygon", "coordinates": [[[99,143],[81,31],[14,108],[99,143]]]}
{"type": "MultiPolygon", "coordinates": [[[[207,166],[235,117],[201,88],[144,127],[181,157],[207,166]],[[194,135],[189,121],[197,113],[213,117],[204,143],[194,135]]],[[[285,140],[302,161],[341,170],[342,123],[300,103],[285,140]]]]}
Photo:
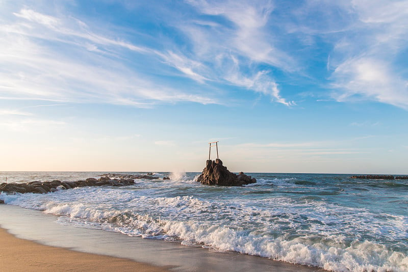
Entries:
{"type": "Polygon", "coordinates": [[[72,189],[75,187],[86,187],[86,186],[126,186],[135,184],[133,179],[110,179],[108,177],[87,178],[86,180],[78,181],[32,181],[29,183],[2,183],[0,184],[0,192],[5,192],[8,194],[14,193],[36,193],[36,194],[46,194],[48,192],[55,192],[59,190],[72,189]]]}

